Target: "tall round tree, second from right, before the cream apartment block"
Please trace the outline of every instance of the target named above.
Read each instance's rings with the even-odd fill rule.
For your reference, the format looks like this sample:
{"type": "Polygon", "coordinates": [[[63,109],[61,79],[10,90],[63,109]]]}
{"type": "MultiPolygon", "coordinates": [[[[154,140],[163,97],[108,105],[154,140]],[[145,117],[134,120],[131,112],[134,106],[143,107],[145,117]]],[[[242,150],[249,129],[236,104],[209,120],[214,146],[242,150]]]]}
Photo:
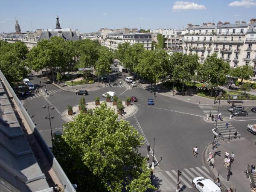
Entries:
{"type": "Polygon", "coordinates": [[[205,60],[204,64],[200,64],[198,67],[198,78],[204,81],[211,89],[211,96],[213,87],[218,87],[218,85],[223,85],[227,82],[226,75],[229,72],[229,68],[230,65],[222,58],[217,58],[217,54],[211,55],[205,60]]]}

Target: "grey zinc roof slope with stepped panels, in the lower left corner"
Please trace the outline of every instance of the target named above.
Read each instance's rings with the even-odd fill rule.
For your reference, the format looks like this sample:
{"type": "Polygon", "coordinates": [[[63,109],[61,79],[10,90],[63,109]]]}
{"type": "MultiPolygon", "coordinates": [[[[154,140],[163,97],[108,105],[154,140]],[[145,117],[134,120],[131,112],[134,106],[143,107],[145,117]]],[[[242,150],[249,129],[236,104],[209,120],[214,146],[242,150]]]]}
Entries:
{"type": "Polygon", "coordinates": [[[50,191],[0,81],[0,191],[50,191]]]}

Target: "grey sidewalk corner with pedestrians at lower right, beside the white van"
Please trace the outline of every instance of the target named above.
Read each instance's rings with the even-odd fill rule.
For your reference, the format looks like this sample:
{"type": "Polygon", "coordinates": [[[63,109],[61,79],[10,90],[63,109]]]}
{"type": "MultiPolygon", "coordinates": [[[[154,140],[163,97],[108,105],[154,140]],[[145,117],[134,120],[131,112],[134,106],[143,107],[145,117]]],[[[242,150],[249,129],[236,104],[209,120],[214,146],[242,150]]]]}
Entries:
{"type": "Polygon", "coordinates": [[[222,186],[230,187],[230,185],[232,185],[234,191],[236,189],[236,192],[250,192],[250,180],[245,177],[244,171],[248,164],[256,164],[256,138],[241,137],[236,140],[233,138],[230,141],[226,139],[218,142],[221,143],[221,146],[218,146],[216,150],[215,166],[213,169],[212,166],[209,166],[209,162],[206,162],[209,152],[214,154],[212,143],[209,143],[206,147],[206,150],[204,151],[204,162],[206,166],[216,178],[220,178],[222,186]],[[224,154],[226,151],[229,151],[230,156],[232,152],[235,154],[235,162],[231,166],[232,175],[230,176],[229,181],[227,181],[228,170],[224,167],[224,154]]]}

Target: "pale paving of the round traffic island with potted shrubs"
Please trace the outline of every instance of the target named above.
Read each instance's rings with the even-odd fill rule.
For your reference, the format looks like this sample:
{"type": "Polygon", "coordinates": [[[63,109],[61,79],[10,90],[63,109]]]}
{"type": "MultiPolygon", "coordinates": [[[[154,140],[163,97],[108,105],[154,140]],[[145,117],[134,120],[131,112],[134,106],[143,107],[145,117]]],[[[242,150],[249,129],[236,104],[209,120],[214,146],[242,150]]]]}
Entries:
{"type": "MultiPolygon", "coordinates": [[[[102,103],[102,102],[106,102],[106,101],[100,101],[100,103],[102,103]]],[[[116,105],[113,105],[112,102],[106,102],[106,103],[107,103],[108,107],[110,107],[112,110],[115,111],[115,113],[118,114],[118,109],[116,108],[116,105]]],[[[118,115],[118,118],[117,118],[118,120],[128,118],[129,116],[133,115],[134,113],[136,113],[138,111],[137,106],[134,104],[126,106],[125,101],[123,101],[122,104],[123,104],[124,112],[122,113],[122,115],[118,115]]],[[[94,109],[95,107],[100,107],[100,106],[96,106],[95,102],[87,102],[86,103],[87,111],[89,109],[94,109]]],[[[61,113],[61,118],[65,122],[70,122],[71,120],[73,120],[74,117],[79,115],[79,113],[81,113],[81,111],[79,110],[79,105],[76,105],[76,106],[73,106],[73,115],[68,115],[68,111],[65,110],[61,113]]]]}

